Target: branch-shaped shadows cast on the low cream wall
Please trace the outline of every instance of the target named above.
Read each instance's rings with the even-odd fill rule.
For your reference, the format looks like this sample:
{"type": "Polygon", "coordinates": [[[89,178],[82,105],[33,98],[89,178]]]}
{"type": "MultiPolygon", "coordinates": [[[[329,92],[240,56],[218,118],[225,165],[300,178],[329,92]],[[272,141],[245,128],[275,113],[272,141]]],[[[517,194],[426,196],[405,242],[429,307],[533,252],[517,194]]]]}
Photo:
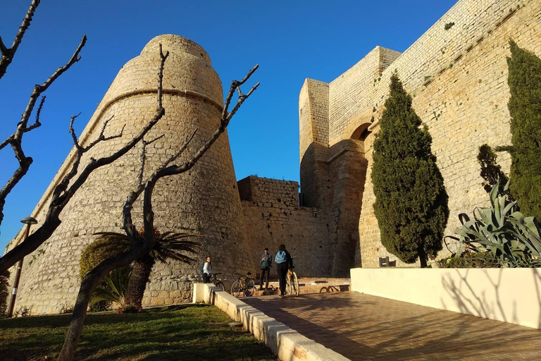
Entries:
{"type": "MultiPolygon", "coordinates": [[[[502,305],[502,275],[505,269],[498,269],[497,279],[491,279],[490,275],[485,272],[486,283],[490,284],[495,294],[495,302],[492,301],[492,298],[487,299],[487,294],[485,292],[479,292],[475,290],[475,286],[468,281],[468,274],[470,274],[473,269],[461,269],[465,270],[466,274],[461,275],[459,269],[456,269],[456,275],[458,276],[459,282],[456,282],[450,277],[442,278],[442,286],[444,290],[451,296],[454,300],[454,304],[459,307],[460,312],[464,314],[471,314],[473,316],[484,317],[487,319],[495,319],[501,317],[504,322],[511,322],[518,324],[519,319],[517,312],[517,305],[514,303],[512,310],[506,310],[504,305],[502,305]]],[[[480,269],[475,269],[475,271],[481,271],[480,269]]],[[[541,272],[536,269],[531,269],[533,272],[533,281],[535,285],[535,292],[537,295],[537,305],[538,305],[538,314],[537,314],[537,328],[541,329],[541,272]]],[[[441,300],[442,306],[448,308],[444,300],[441,300]]]]}

